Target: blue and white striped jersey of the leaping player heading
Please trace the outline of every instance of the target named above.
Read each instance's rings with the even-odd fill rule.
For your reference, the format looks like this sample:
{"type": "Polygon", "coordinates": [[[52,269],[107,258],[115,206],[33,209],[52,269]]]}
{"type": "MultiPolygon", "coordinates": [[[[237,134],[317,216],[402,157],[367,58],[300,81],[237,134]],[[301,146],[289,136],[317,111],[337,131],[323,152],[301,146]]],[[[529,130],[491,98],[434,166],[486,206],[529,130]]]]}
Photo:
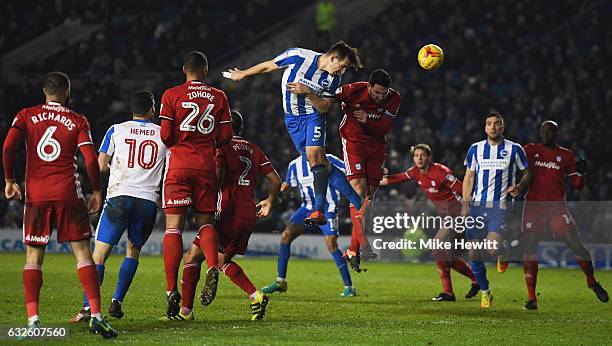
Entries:
{"type": "Polygon", "coordinates": [[[332,76],[317,68],[321,55],[323,54],[308,49],[289,48],[274,58],[276,65],[285,69],[281,80],[285,114],[298,116],[318,113],[306,95],[290,93],[287,83],[299,82],[309,86],[319,96],[334,96],[340,86],[341,77],[332,76]]]}

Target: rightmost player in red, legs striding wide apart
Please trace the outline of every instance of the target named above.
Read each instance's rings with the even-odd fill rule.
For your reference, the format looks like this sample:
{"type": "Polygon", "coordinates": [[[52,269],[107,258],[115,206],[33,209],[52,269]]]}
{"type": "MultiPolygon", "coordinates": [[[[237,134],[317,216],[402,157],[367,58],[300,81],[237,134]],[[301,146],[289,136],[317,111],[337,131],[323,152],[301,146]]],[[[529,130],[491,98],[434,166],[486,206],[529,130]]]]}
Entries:
{"type": "Polygon", "coordinates": [[[586,275],[587,285],[602,302],[608,301],[608,292],[595,279],[591,254],[582,244],[578,227],[565,203],[565,179],[575,189],[584,187],[586,161],[576,162],[569,149],[557,144],[559,126],[547,120],[540,126],[541,143],[525,145],[525,153],[533,178],[525,197],[523,209],[523,271],[529,300],[526,310],[536,310],[536,283],[538,278],[538,235],[549,229],[555,238],[572,250],[580,269],[586,275]]]}

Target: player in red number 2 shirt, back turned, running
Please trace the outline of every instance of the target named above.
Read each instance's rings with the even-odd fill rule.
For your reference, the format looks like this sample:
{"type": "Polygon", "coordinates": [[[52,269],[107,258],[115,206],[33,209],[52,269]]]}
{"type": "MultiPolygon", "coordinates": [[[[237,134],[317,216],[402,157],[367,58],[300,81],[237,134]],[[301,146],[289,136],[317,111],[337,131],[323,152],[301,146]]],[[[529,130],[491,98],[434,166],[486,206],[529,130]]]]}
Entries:
{"type": "MultiPolygon", "coordinates": [[[[249,296],[252,319],[260,320],[265,315],[268,297],[255,288],[232,258],[245,253],[257,218],[268,216],[272,209],[280,191],[281,180],[263,151],[241,137],[243,118],[236,111],[232,111],[232,129],[232,140],[217,150],[217,167],[222,186],[221,210],[217,223],[220,239],[219,262],[223,264],[223,273],[249,296]],[[255,205],[253,196],[260,174],[265,176],[268,182],[268,197],[255,205]]],[[[182,308],[179,314],[172,318],[174,320],[193,319],[195,289],[200,279],[200,263],[204,259],[201,247],[198,246],[199,241],[201,239],[194,240],[185,256],[181,280],[182,308]]],[[[208,305],[205,291],[202,291],[200,301],[203,305],[208,305]]]]}

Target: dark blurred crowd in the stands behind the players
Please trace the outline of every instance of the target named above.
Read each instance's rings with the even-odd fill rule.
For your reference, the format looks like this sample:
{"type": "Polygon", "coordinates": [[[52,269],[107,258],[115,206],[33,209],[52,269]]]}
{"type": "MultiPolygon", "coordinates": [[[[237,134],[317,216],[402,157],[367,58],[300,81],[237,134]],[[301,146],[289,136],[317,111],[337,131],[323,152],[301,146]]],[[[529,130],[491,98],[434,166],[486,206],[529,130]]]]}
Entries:
{"type": "MultiPolygon", "coordinates": [[[[230,2],[219,3],[211,11],[197,9],[194,1],[184,5],[153,3],[160,6],[132,8],[129,2],[105,3],[102,31],[89,41],[67,47],[61,55],[28,65],[24,71],[42,74],[62,70],[75,79],[72,105],[88,115],[96,144],[110,124],[129,116],[128,97],[119,92],[123,77],[176,70],[182,59],[177,52],[184,47],[201,49],[211,65],[223,66],[219,57],[281,18],[282,13],[277,16],[267,8],[275,6],[275,10],[288,13],[305,1],[249,2],[241,13],[230,13],[230,2]],[[277,8],[279,3],[284,4],[281,9],[277,8]]],[[[610,200],[612,147],[606,141],[612,76],[606,62],[612,58],[612,32],[605,29],[604,20],[612,14],[612,5],[569,0],[451,3],[395,2],[368,23],[353,28],[345,38],[360,49],[366,69],[347,73],[343,81],[367,80],[371,70],[382,67],[402,95],[397,126],[388,136],[389,171],[407,169],[411,165],[410,146],[424,142],[432,146],[435,161],[462,177],[467,148],[484,138],[483,115],[495,108],[505,116],[506,136],[519,143],[537,141],[540,122],[556,120],[561,127],[561,144],[589,161],[587,186],[569,192],[568,199],[610,200]],[[435,72],[424,71],[416,63],[418,49],[430,42],[446,53],[444,65],[435,72]]],[[[13,7],[10,18],[19,16],[20,8],[13,7]]],[[[2,25],[8,26],[9,32],[19,31],[11,23],[2,25]]],[[[26,30],[19,34],[21,41],[4,37],[0,44],[6,51],[4,47],[36,34],[26,30]]],[[[320,42],[319,47],[309,48],[325,50],[329,45],[320,42]]],[[[277,53],[270,52],[270,58],[277,53]]],[[[281,73],[272,73],[225,89],[232,108],[245,116],[245,136],[268,154],[283,175],[297,152],[283,129],[280,77],[281,73]]],[[[175,81],[180,79],[176,71],[175,81]]],[[[155,95],[161,97],[172,83],[160,79],[155,95]]],[[[18,109],[40,102],[39,88],[32,79],[3,88],[0,133],[6,133],[18,109]]],[[[334,107],[328,118],[328,152],[341,157],[339,107],[334,107]]],[[[405,184],[399,190],[381,189],[377,195],[382,200],[414,198],[424,199],[416,184],[405,184]]],[[[0,215],[0,227],[20,227],[19,204],[0,198],[0,215]]]]}

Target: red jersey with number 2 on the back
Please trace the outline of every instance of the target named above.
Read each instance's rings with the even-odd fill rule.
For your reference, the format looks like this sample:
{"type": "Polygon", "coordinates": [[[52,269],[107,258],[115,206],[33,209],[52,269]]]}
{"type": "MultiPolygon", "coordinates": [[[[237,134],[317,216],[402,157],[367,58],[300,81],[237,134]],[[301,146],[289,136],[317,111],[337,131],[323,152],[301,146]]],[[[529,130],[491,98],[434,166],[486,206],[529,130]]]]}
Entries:
{"type": "Polygon", "coordinates": [[[241,215],[255,217],[254,193],[259,174],[274,171],[259,147],[239,136],[217,150],[217,165],[224,169],[222,209],[234,208],[241,215]]]}

